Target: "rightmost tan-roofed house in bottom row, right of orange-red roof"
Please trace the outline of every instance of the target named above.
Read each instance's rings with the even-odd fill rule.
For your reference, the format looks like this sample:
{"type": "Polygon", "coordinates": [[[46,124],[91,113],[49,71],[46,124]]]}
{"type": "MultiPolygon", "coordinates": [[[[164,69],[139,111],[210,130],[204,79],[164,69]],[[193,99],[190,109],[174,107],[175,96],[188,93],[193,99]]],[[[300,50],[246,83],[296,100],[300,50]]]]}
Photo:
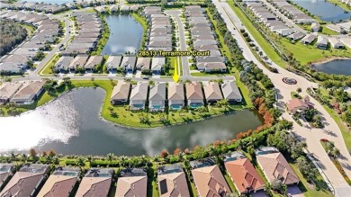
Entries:
{"type": "Polygon", "coordinates": [[[257,163],[262,168],[269,183],[280,180],[283,184],[299,184],[299,177],[293,172],[293,168],[282,153],[258,155],[257,163]]]}

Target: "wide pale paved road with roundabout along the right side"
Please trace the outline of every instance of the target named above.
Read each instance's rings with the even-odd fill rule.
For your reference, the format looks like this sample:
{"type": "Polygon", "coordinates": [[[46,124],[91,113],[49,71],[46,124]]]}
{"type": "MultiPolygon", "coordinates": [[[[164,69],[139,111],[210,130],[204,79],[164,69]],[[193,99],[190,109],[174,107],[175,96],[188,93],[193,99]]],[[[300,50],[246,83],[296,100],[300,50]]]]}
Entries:
{"type": "MultiPolygon", "coordinates": [[[[243,49],[244,57],[248,60],[252,60],[257,64],[258,67],[263,69],[264,73],[272,80],[275,85],[275,88],[278,92],[278,107],[283,112],[283,118],[288,121],[293,121],[292,116],[290,116],[284,110],[284,104],[291,99],[291,92],[296,90],[297,87],[302,88],[302,96],[307,95],[306,89],[315,85],[302,76],[297,76],[287,70],[278,67],[273,63],[273,67],[276,67],[279,71],[278,74],[272,73],[266,69],[254,56],[252,51],[248,48],[245,40],[240,36],[238,28],[241,26],[241,22],[238,16],[231,10],[229,4],[226,2],[219,2],[218,0],[212,0],[216,5],[218,11],[221,13],[224,21],[227,23],[229,31],[233,34],[234,38],[238,41],[238,45],[243,49]],[[298,81],[297,85],[286,85],[282,82],[283,77],[293,77],[298,81]]],[[[240,27],[246,29],[245,27],[240,27]]],[[[249,31],[247,31],[249,33],[249,31]]],[[[251,39],[254,37],[250,36],[251,39]]],[[[258,46],[258,45],[257,45],[258,46]]],[[[260,49],[262,50],[262,49],[260,49]]],[[[311,98],[311,97],[310,97],[311,98]]],[[[335,142],[336,147],[340,150],[341,157],[338,159],[341,165],[343,166],[345,172],[349,177],[351,177],[351,157],[347,151],[344,139],[342,137],[341,131],[338,128],[337,123],[329,116],[329,113],[318,103],[315,99],[311,98],[311,103],[314,103],[314,107],[320,112],[321,116],[325,119],[323,122],[325,128],[321,129],[310,129],[306,127],[301,127],[295,121],[293,121],[293,132],[300,136],[302,139],[305,139],[308,145],[308,150],[316,157],[324,173],[327,175],[330,183],[334,187],[338,186],[347,186],[348,184],[344,178],[338,172],[338,169],[329,159],[327,153],[320,145],[320,139],[329,139],[335,142]]]]}

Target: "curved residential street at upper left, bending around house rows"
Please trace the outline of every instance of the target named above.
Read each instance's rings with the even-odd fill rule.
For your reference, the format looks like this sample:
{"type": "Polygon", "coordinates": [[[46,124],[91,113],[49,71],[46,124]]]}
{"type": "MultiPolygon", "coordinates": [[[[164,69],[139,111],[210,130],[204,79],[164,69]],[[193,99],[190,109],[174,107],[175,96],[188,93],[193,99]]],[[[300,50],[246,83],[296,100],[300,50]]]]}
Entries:
{"type": "Polygon", "coordinates": [[[40,69],[42,67],[44,67],[47,62],[49,61],[50,58],[52,58],[59,49],[59,46],[61,46],[61,44],[66,44],[67,40],[69,40],[69,38],[71,37],[71,28],[70,28],[70,21],[67,18],[63,18],[64,14],[61,15],[50,15],[49,17],[54,18],[54,19],[58,19],[58,20],[63,20],[66,23],[66,32],[65,32],[65,37],[64,39],[62,39],[58,45],[52,49],[49,54],[40,61],[40,63],[38,64],[38,66],[36,67],[36,69],[34,70],[34,72],[31,72],[29,75],[31,77],[35,77],[37,75],[39,75],[40,69]]]}

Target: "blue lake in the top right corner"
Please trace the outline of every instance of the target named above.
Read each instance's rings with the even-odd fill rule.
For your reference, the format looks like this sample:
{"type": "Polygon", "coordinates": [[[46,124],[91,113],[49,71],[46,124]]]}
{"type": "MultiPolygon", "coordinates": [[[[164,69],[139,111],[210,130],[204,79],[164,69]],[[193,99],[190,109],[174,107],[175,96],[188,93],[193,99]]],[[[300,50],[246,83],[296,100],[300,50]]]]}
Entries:
{"type": "Polygon", "coordinates": [[[293,3],[299,4],[307,9],[311,14],[319,16],[325,22],[339,22],[350,19],[351,13],[345,13],[345,10],[338,5],[331,4],[325,0],[292,0],[293,3]]]}

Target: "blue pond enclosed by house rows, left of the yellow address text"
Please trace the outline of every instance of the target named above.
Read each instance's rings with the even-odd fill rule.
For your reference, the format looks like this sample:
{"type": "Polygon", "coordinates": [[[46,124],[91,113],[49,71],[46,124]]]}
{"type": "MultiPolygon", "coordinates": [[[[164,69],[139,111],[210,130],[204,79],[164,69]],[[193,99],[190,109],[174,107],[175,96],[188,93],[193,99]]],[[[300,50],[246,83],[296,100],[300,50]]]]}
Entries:
{"type": "Polygon", "coordinates": [[[144,29],[131,15],[106,15],[110,38],[103,48],[103,55],[136,53],[141,45],[144,29]]]}

